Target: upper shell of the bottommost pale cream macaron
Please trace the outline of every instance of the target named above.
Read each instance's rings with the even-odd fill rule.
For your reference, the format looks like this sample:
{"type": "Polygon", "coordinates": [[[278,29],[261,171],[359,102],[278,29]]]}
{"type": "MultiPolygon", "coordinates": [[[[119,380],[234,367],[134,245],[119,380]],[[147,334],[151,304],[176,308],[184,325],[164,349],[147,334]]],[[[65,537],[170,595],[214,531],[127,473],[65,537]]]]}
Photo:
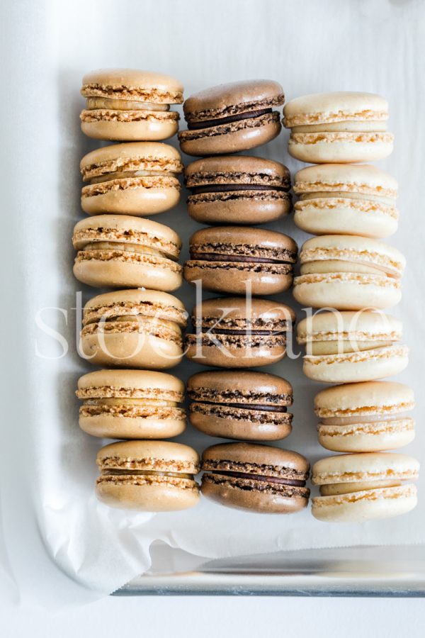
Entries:
{"type": "Polygon", "coordinates": [[[370,483],[373,481],[403,481],[417,478],[419,461],[407,454],[366,452],[337,454],[314,463],[312,483],[370,483]]]}

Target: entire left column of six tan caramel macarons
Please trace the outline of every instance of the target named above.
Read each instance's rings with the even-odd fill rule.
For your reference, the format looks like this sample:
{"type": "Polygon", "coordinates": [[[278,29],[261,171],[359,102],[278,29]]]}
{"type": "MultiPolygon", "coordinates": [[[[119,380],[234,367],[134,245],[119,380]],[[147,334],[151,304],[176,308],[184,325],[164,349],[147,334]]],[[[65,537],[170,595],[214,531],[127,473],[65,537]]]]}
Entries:
{"type": "Polygon", "coordinates": [[[186,428],[183,381],[163,371],[183,357],[187,313],[170,294],[183,280],[181,239],[149,219],[179,203],[181,155],[162,140],[179,128],[170,105],[183,102],[183,86],[163,74],[109,69],[87,74],[81,94],[83,133],[120,142],[81,159],[88,217],[72,237],[77,279],[113,289],[86,303],[79,344],[103,368],[79,379],[79,425],[118,440],[98,452],[96,493],[117,508],[190,508],[199,498],[198,453],[164,441],[186,428]]]}

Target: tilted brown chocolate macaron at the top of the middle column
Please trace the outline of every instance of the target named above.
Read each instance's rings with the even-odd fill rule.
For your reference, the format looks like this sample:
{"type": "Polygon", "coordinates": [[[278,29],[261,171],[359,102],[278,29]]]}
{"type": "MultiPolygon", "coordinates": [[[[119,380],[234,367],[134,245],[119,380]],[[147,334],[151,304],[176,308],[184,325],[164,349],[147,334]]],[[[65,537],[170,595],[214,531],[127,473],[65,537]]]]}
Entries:
{"type": "Polygon", "coordinates": [[[179,132],[187,155],[236,153],[266,144],[280,133],[280,115],[273,111],[285,101],[273,80],[219,84],[191,95],[183,104],[188,130],[179,132]]]}

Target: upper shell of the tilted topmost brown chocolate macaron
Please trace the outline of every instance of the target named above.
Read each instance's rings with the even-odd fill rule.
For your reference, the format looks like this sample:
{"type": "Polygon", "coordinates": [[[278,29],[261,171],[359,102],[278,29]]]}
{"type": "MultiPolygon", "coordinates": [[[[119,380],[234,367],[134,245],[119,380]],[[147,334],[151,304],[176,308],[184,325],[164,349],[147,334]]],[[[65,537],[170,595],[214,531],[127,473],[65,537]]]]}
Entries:
{"type": "Polygon", "coordinates": [[[191,95],[183,104],[188,123],[227,118],[259,108],[280,106],[285,101],[278,82],[259,79],[218,84],[191,95]]]}

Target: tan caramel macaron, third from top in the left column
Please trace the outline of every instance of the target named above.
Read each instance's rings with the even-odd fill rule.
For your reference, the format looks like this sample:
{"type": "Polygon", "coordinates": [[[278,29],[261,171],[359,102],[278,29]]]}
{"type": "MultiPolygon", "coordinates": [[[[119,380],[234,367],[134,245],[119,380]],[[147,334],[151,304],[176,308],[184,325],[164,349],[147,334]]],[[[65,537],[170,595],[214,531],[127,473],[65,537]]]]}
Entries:
{"type": "Polygon", "coordinates": [[[173,291],[181,286],[181,239],[150,219],[96,215],[77,223],[74,275],[97,288],[146,287],[173,291]]]}

